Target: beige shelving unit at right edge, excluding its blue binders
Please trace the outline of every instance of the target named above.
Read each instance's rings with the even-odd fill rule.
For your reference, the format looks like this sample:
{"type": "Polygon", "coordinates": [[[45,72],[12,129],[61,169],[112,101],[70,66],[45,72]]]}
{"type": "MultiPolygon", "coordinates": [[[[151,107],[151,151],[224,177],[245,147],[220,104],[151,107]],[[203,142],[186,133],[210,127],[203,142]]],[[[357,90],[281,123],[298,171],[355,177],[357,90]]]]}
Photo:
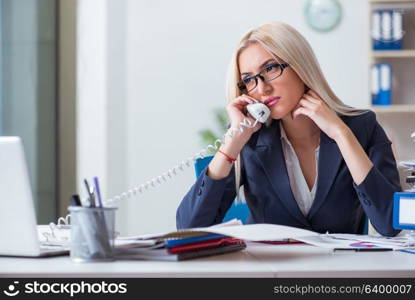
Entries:
{"type": "MultiPolygon", "coordinates": [[[[368,86],[368,106],[376,113],[378,122],[382,125],[389,140],[396,160],[414,159],[415,144],[410,138],[415,130],[415,0],[371,0],[368,16],[368,68],[372,64],[387,63],[392,67],[392,99],[391,105],[371,105],[371,85],[368,86]],[[403,12],[404,37],[402,50],[372,49],[371,20],[375,10],[398,10],[403,12]]],[[[370,71],[368,72],[371,73],[370,71]]],[[[368,80],[369,81],[369,80],[368,80]]],[[[370,81],[369,81],[370,82],[370,81]]],[[[405,182],[406,174],[399,169],[401,186],[409,188],[405,182]]]]}

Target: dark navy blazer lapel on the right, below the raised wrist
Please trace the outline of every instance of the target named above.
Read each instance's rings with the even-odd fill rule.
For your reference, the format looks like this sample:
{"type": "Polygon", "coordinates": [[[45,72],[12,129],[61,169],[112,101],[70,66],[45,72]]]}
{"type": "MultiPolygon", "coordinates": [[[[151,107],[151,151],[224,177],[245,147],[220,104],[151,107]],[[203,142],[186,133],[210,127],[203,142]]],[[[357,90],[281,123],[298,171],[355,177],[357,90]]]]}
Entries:
{"type": "Polygon", "coordinates": [[[326,200],[342,160],[343,156],[337,143],[324,132],[321,132],[317,191],[308,218],[311,218],[326,200]]]}

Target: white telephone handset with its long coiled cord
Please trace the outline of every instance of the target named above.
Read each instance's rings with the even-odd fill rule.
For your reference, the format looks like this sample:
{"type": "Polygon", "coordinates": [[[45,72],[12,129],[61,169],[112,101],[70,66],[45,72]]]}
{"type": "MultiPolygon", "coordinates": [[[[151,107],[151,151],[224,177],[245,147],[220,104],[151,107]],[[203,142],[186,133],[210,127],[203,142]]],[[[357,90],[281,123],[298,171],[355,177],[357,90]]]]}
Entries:
{"type": "MultiPolygon", "coordinates": [[[[253,128],[256,126],[258,122],[265,123],[271,112],[263,103],[257,102],[253,104],[249,104],[246,106],[246,109],[248,113],[255,119],[255,122],[252,124],[248,119],[244,119],[243,122],[240,123],[239,128],[233,128],[229,130],[225,136],[233,137],[234,133],[239,131],[243,132],[244,127],[245,128],[253,128]]],[[[223,138],[223,140],[225,140],[223,138]]],[[[135,188],[132,188],[128,190],[127,192],[122,193],[121,195],[115,196],[112,199],[108,199],[105,201],[105,203],[108,205],[112,202],[124,200],[131,198],[133,196],[136,196],[138,193],[142,194],[145,190],[148,190],[150,187],[156,187],[157,184],[161,184],[163,181],[167,181],[168,179],[172,178],[174,175],[177,175],[177,171],[184,171],[184,167],[190,167],[193,166],[194,162],[198,158],[204,158],[205,156],[210,155],[210,149],[216,152],[216,150],[219,149],[220,145],[224,144],[224,142],[221,139],[217,139],[213,145],[207,146],[205,149],[202,149],[199,151],[199,153],[196,153],[195,155],[188,157],[186,160],[182,161],[172,169],[169,169],[167,172],[164,172],[162,175],[157,176],[151,180],[148,180],[146,183],[141,184],[135,188]]]]}

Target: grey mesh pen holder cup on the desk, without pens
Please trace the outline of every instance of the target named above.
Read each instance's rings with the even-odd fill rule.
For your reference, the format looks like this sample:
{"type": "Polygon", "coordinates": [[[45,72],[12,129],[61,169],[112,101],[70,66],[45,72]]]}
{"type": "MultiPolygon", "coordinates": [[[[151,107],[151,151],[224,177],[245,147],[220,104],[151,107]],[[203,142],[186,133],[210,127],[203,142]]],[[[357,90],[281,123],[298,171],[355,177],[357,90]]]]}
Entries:
{"type": "Polygon", "coordinates": [[[70,256],[75,262],[113,261],[116,207],[69,206],[70,256]]]}

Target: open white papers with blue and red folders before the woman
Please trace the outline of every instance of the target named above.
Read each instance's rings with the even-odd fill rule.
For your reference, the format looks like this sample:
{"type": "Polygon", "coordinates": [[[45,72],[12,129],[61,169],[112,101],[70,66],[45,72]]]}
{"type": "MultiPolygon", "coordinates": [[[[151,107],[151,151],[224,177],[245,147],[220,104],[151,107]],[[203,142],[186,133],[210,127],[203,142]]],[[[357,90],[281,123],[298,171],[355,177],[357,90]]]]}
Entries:
{"type": "Polygon", "coordinates": [[[244,241],[287,241],[318,235],[315,232],[274,224],[240,222],[210,227],[191,228],[162,234],[129,237],[130,240],[154,241],[152,246],[118,249],[118,259],[186,260],[202,256],[238,251],[246,248],[244,241]]]}

